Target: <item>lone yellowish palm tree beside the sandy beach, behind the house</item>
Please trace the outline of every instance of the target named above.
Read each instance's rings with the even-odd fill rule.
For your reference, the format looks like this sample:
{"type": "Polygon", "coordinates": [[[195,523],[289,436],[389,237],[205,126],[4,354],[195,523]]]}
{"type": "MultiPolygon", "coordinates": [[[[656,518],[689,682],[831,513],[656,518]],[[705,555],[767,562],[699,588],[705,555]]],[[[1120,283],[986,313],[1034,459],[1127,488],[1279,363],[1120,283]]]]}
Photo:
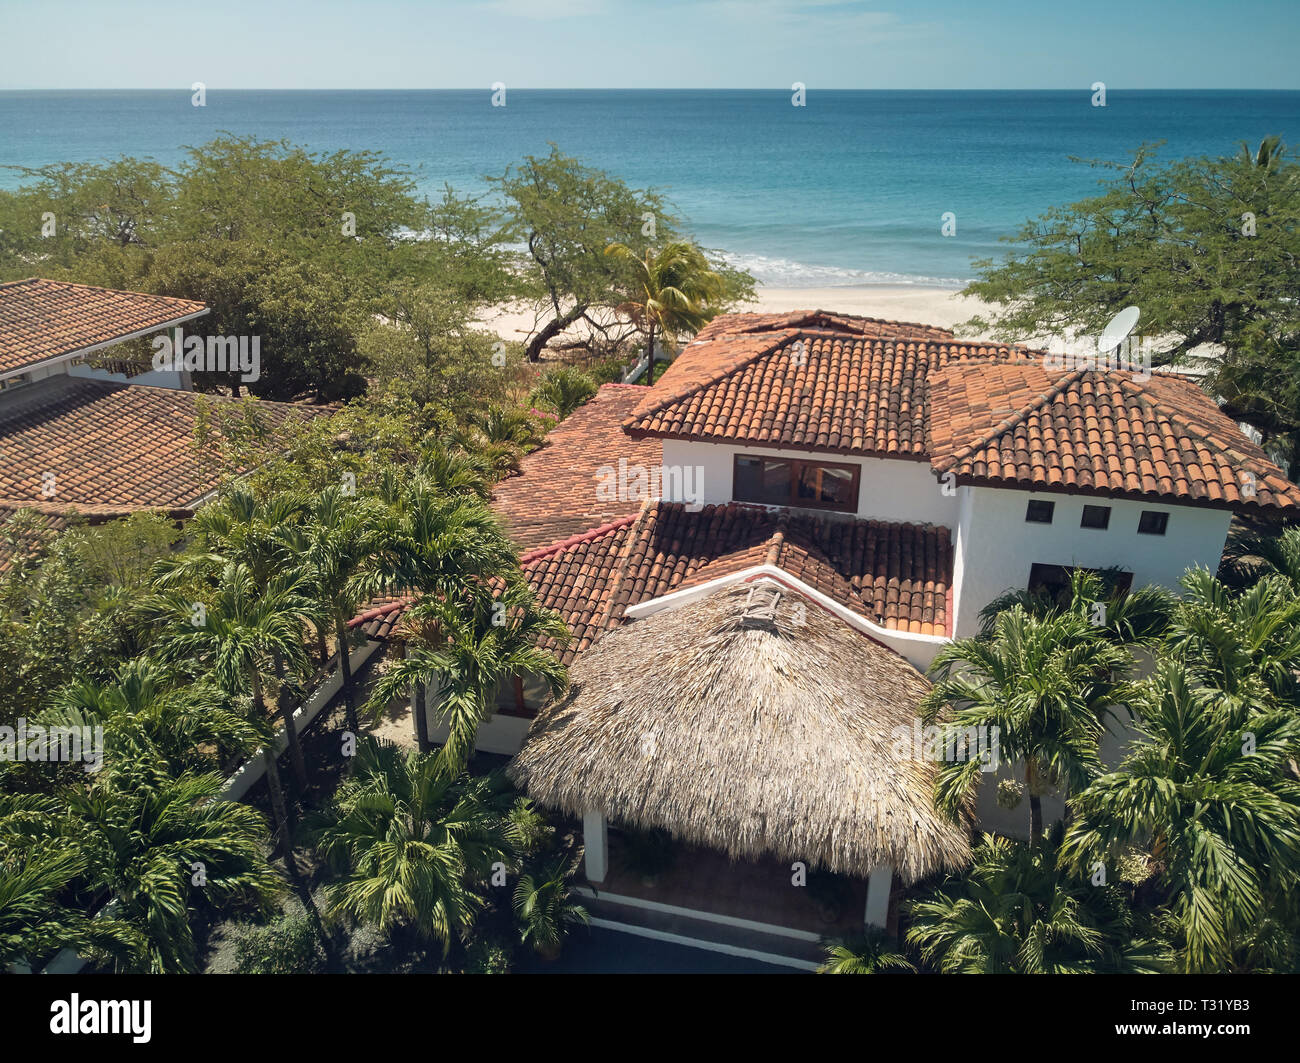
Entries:
{"type": "Polygon", "coordinates": [[[655,335],[671,338],[703,326],[718,312],[725,282],[698,247],[681,240],[640,256],[627,244],[611,243],[604,253],[634,273],[634,294],[618,309],[646,335],[646,383],[654,383],[655,335]]]}

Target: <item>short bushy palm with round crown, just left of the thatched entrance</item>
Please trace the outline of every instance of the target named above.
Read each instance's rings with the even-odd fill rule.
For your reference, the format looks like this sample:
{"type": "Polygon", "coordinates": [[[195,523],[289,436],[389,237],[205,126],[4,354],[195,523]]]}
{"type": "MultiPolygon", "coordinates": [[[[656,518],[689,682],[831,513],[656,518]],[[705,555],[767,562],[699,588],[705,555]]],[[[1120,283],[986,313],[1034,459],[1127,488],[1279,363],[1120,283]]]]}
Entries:
{"type": "Polygon", "coordinates": [[[330,889],[334,914],[382,933],[410,927],[448,953],[482,906],[493,864],[510,860],[511,800],[498,780],[447,773],[429,754],[364,737],[316,824],[317,847],[344,875],[330,889]]]}

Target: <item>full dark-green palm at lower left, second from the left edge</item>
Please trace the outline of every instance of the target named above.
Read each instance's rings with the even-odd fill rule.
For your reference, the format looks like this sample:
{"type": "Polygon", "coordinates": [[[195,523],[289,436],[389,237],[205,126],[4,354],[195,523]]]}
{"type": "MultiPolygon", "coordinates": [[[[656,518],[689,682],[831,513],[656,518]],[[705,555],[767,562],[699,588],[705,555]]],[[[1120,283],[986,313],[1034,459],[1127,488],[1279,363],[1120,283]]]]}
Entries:
{"type": "Polygon", "coordinates": [[[266,910],[283,889],[266,862],[265,820],[247,804],[216,800],[221,785],[217,775],[169,778],[142,765],[131,778],[69,793],[64,833],[91,880],[113,895],[114,917],[144,938],[140,969],[196,969],[196,903],[266,910]]]}

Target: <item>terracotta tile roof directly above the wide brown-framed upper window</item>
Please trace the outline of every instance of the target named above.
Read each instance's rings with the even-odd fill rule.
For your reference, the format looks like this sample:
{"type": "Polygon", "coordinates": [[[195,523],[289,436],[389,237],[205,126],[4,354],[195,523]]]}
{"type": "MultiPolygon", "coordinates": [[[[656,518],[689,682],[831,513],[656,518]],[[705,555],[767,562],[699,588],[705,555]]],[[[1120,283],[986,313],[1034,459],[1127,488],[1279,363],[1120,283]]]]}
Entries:
{"type": "Polygon", "coordinates": [[[837,454],[926,456],[931,372],[1030,361],[1005,344],[786,329],[718,335],[686,346],[624,428],[636,437],[699,439],[837,454]]]}

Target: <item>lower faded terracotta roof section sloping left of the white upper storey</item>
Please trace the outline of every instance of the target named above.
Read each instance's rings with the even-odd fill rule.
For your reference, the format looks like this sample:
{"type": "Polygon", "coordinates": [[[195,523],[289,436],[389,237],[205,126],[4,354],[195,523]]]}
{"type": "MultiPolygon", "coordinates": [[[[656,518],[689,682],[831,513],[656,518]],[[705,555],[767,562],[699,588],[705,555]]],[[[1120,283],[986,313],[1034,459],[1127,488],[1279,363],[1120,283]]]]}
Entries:
{"type": "Polygon", "coordinates": [[[658,467],[663,443],[632,439],[623,421],[647,387],[607,383],[595,396],[556,425],[546,442],[524,457],[521,472],[493,489],[493,508],[506,519],[521,550],[552,543],[615,517],[641,509],[642,499],[599,500],[597,469],[658,467]]]}

